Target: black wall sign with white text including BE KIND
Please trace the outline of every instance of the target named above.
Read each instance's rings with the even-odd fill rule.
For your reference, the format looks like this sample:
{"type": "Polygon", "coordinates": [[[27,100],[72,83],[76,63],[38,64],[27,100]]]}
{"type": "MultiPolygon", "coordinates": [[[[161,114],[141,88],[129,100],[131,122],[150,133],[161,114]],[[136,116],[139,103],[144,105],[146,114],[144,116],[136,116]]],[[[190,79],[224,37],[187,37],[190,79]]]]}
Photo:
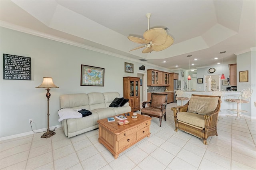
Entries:
{"type": "Polygon", "coordinates": [[[31,57],[3,54],[4,79],[31,80],[31,57]]]}

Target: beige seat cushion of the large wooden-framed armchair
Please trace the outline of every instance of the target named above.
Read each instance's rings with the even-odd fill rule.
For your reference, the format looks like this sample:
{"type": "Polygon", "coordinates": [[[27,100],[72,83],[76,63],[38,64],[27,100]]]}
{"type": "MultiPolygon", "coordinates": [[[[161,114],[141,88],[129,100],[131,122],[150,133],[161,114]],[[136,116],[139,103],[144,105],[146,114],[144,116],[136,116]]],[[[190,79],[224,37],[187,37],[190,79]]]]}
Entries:
{"type": "Polygon", "coordinates": [[[179,112],[177,114],[179,121],[204,128],[204,115],[199,115],[191,112],[179,112]]]}

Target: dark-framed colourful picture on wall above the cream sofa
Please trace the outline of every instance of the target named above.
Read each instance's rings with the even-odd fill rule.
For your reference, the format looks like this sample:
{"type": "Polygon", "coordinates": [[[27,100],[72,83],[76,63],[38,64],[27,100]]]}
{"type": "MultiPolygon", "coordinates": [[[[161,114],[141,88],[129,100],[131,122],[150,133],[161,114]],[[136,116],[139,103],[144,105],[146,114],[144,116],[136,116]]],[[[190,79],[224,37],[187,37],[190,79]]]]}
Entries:
{"type": "Polygon", "coordinates": [[[81,64],[81,86],[104,86],[104,68],[81,64]]]}

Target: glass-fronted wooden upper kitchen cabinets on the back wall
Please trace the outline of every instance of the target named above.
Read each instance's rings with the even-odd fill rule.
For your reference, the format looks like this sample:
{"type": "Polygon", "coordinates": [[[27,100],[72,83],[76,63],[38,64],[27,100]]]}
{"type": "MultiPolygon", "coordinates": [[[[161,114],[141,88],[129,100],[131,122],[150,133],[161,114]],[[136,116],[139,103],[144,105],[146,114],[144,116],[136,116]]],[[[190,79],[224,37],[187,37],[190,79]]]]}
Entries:
{"type": "Polygon", "coordinates": [[[154,69],[147,70],[148,86],[169,86],[170,74],[154,69]]]}

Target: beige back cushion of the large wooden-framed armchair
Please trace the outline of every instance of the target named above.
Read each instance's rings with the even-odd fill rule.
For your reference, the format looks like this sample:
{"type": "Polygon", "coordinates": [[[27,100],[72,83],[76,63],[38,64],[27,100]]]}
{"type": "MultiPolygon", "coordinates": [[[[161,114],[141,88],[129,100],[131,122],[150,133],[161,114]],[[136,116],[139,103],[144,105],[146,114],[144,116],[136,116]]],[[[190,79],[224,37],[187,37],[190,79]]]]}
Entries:
{"type": "Polygon", "coordinates": [[[205,115],[214,111],[218,105],[218,97],[191,96],[188,105],[188,112],[205,115]]]}

